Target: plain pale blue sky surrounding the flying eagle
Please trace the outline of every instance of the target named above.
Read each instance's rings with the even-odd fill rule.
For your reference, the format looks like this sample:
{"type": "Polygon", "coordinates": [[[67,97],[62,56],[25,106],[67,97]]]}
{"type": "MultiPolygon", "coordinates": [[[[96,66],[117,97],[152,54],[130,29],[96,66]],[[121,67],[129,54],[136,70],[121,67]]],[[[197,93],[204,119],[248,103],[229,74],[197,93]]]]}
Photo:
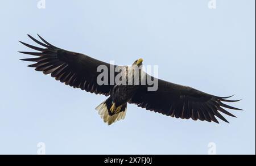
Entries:
{"type": "Polygon", "coordinates": [[[0,154],[255,154],[255,1],[1,1],[0,154]],[[39,33],[102,61],[159,65],[159,78],[217,96],[236,94],[230,124],[181,120],[128,105],[108,126],[106,99],[26,67],[18,40],[39,33]]]}

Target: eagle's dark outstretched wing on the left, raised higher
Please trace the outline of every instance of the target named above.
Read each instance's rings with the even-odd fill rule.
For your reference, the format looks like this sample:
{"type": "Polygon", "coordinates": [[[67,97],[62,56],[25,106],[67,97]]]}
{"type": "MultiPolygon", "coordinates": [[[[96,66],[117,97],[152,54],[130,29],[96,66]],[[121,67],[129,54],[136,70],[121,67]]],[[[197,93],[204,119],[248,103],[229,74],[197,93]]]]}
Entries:
{"type": "MultiPolygon", "coordinates": [[[[39,35],[38,35],[39,36],[39,35]]],[[[84,54],[69,52],[64,49],[57,48],[49,44],[41,36],[40,39],[44,42],[34,39],[34,37],[28,35],[30,39],[44,48],[32,46],[20,41],[27,47],[37,50],[39,52],[20,52],[23,54],[30,54],[32,56],[38,56],[36,58],[20,59],[23,61],[36,62],[28,67],[35,67],[36,71],[43,71],[44,74],[51,74],[56,80],[60,80],[71,87],[81,88],[87,92],[103,94],[108,96],[110,90],[114,85],[98,85],[97,76],[100,74],[97,72],[99,65],[105,65],[108,67],[108,74],[110,73],[110,66],[115,67],[109,63],[99,61],[84,54]]],[[[109,75],[108,75],[109,78],[109,75]]]]}

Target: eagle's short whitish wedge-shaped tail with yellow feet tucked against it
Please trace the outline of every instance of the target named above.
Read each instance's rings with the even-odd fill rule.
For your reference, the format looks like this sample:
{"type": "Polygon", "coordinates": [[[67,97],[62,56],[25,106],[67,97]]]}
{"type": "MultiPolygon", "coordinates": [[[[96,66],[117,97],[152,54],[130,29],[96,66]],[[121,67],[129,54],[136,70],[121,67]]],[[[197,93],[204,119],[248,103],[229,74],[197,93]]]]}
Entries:
{"type": "Polygon", "coordinates": [[[127,103],[115,107],[115,103],[112,101],[112,98],[109,97],[107,100],[103,101],[96,108],[98,114],[108,125],[113,124],[116,121],[123,120],[126,115],[127,103]]]}

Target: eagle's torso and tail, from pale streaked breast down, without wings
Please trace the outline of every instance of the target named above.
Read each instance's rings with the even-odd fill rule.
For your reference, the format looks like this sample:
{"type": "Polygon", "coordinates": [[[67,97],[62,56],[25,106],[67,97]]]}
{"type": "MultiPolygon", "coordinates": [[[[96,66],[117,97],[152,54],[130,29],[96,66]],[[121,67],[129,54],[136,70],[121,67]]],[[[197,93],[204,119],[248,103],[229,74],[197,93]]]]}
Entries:
{"type": "Polygon", "coordinates": [[[123,82],[119,80],[120,82],[117,82],[117,85],[110,91],[110,97],[96,107],[96,110],[108,125],[117,121],[119,117],[125,118],[127,103],[133,98],[139,87],[142,86],[141,83],[146,79],[146,73],[142,69],[135,68],[136,65],[137,63],[134,63],[132,66],[122,67],[120,74],[122,79],[125,79],[125,84],[121,84],[123,82]],[[135,85],[135,78],[138,78],[137,85],[135,85]]]}

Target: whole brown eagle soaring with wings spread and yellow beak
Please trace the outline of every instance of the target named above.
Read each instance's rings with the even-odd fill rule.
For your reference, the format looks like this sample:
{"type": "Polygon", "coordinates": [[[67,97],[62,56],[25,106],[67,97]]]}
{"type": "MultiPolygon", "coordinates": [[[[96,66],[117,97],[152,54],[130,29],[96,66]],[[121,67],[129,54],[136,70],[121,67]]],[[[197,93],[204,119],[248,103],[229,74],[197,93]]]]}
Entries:
{"type": "MultiPolygon", "coordinates": [[[[39,36],[39,35],[38,35],[39,36]]],[[[117,66],[109,63],[99,61],[85,54],[70,52],[61,48],[57,48],[49,44],[41,36],[42,41],[36,40],[34,37],[28,35],[30,39],[39,44],[41,47],[26,44],[20,41],[28,48],[39,52],[20,52],[36,56],[34,58],[21,59],[23,61],[35,62],[28,67],[35,67],[36,71],[42,71],[44,74],[51,74],[56,80],[59,80],[66,85],[81,90],[102,94],[109,96],[103,103],[98,105],[96,109],[108,125],[113,122],[125,118],[127,103],[136,104],[138,107],[145,108],[154,112],[162,113],[166,116],[201,120],[208,122],[216,122],[216,117],[222,121],[228,122],[221,113],[228,116],[236,117],[228,112],[228,109],[242,110],[231,107],[224,102],[236,102],[240,100],[228,100],[229,97],[219,97],[210,95],[208,93],[196,90],[188,86],[181,86],[167,82],[165,80],[158,80],[158,89],[156,91],[148,91],[149,85],[141,84],[147,76],[146,73],[139,74],[139,84],[125,85],[125,84],[98,84],[97,77],[100,74],[97,72],[97,67],[100,65],[110,67],[120,67],[120,72],[114,72],[114,76],[126,75],[126,78],[132,78],[131,67],[142,66],[142,59],[136,60],[131,66],[117,66]],[[42,48],[43,47],[43,48],[42,48]],[[220,113],[221,112],[221,113],[220,113]]],[[[110,72],[107,73],[108,76],[110,72]]],[[[154,79],[154,77],[152,77],[154,79]]],[[[110,80],[108,80],[108,83],[110,80]]]]}

